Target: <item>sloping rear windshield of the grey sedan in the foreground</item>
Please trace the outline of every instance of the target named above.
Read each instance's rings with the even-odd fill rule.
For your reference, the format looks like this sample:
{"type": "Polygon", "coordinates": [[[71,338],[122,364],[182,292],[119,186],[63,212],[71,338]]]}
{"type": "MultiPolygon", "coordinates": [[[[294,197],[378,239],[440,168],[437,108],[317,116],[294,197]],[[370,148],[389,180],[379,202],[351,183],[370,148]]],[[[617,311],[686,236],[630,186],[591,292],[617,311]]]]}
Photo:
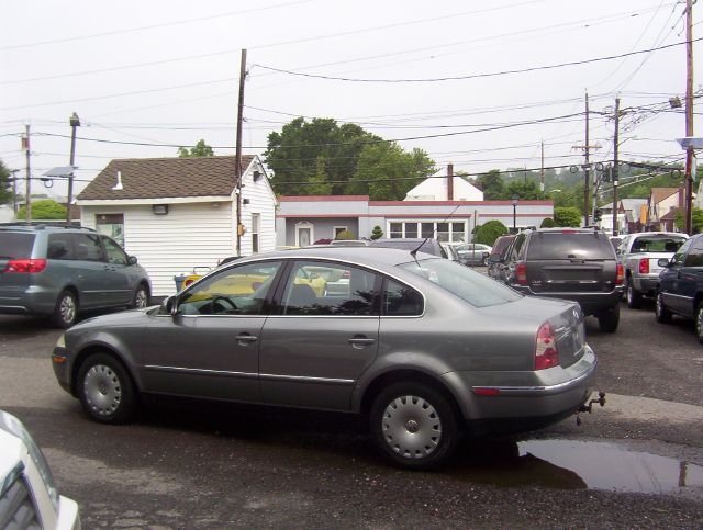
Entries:
{"type": "Polygon", "coordinates": [[[411,261],[398,267],[429,280],[475,307],[505,304],[523,297],[490,278],[446,259],[411,261]]]}

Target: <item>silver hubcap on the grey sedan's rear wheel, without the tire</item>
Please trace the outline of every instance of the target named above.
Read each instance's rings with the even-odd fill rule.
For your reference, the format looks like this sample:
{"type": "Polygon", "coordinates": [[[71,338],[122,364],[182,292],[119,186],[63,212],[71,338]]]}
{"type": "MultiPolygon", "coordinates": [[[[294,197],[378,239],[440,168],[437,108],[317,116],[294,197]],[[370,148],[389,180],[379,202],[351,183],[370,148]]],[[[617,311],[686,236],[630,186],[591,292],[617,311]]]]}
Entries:
{"type": "Polygon", "coordinates": [[[400,396],[389,403],[381,429],[388,447],[408,459],[428,456],[442,440],[439,415],[419,396],[400,396]]]}

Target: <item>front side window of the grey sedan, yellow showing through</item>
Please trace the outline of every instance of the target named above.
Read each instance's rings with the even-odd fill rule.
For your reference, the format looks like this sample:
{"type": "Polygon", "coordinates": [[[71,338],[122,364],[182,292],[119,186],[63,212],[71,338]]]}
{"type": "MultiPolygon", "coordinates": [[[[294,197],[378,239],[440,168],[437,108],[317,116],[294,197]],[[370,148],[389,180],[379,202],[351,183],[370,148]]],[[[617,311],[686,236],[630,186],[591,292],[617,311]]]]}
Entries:
{"type": "Polygon", "coordinates": [[[280,262],[243,264],[213,274],[180,298],[182,315],[261,315],[280,262]]]}

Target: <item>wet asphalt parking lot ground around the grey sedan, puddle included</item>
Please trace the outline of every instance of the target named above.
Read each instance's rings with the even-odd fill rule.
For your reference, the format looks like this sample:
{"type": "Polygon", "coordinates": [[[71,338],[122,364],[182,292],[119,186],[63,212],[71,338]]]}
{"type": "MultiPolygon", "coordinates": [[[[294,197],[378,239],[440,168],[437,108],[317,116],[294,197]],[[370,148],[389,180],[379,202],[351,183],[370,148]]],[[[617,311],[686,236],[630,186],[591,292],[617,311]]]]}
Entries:
{"type": "Polygon", "coordinates": [[[60,331],[0,317],[0,407],[30,428],[85,528],[703,526],[703,346],[622,306],[588,341],[605,407],[515,439],[467,441],[447,470],[389,467],[354,417],[158,402],[91,422],[48,359],[60,331]]]}

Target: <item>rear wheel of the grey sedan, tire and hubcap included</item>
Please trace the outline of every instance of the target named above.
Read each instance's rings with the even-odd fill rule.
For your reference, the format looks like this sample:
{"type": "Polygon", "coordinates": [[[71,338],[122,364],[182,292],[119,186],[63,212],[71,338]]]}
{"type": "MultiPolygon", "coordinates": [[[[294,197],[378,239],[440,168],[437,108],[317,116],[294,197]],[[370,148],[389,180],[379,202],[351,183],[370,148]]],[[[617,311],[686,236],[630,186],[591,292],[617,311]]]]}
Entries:
{"type": "Polygon", "coordinates": [[[370,431],[378,449],[394,464],[431,470],[456,450],[457,417],[447,398],[423,383],[394,383],[375,399],[370,431]]]}

